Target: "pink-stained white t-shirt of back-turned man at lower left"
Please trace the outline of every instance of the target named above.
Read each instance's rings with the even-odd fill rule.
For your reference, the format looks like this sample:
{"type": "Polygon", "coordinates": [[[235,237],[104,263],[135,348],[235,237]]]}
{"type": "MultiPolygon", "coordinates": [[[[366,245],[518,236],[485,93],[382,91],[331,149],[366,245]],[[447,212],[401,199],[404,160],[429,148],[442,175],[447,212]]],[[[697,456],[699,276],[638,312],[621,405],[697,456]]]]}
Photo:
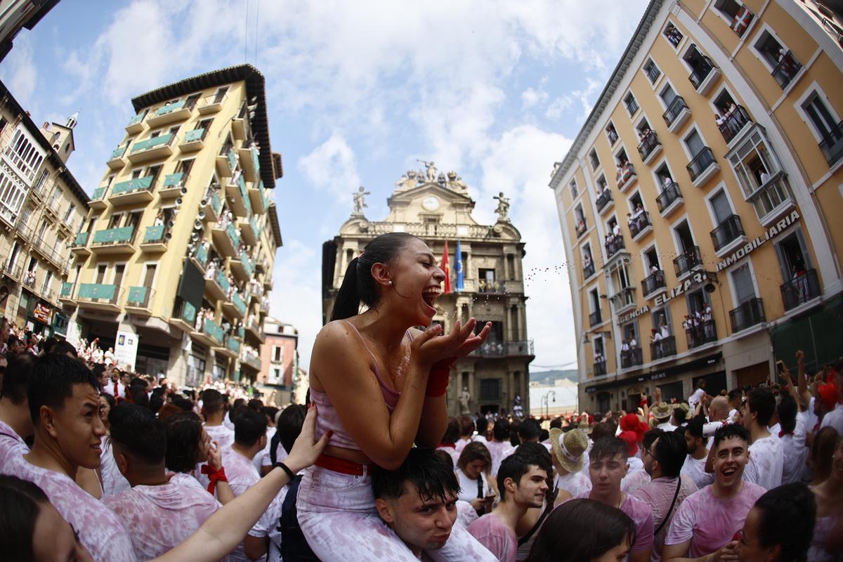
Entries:
{"type": "Polygon", "coordinates": [[[103,498],[105,506],[132,529],[130,537],[138,560],[153,559],[174,549],[217,511],[219,504],[212,495],[198,482],[196,486],[185,485],[180,482],[183,479],[193,478],[175,474],[167,484],[135,486],[103,498]]]}

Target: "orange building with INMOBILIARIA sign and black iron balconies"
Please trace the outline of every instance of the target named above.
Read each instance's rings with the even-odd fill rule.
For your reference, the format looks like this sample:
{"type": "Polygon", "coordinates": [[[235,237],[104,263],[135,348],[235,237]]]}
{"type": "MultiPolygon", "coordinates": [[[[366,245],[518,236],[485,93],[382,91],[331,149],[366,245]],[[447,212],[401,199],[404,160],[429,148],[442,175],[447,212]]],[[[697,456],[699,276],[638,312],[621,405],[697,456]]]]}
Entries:
{"type": "Polygon", "coordinates": [[[556,163],[581,409],[840,355],[839,17],[653,0],[556,163]]]}

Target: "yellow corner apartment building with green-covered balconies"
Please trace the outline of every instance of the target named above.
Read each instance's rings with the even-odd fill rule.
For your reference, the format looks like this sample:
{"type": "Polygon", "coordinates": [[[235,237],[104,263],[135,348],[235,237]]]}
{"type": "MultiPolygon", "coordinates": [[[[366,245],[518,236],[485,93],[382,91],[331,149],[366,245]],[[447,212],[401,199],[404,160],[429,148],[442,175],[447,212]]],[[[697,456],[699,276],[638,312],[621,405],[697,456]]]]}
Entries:
{"type": "Polygon", "coordinates": [[[263,75],[223,68],[132,106],[72,243],[68,337],[182,384],[254,382],[282,244],[263,75]]]}

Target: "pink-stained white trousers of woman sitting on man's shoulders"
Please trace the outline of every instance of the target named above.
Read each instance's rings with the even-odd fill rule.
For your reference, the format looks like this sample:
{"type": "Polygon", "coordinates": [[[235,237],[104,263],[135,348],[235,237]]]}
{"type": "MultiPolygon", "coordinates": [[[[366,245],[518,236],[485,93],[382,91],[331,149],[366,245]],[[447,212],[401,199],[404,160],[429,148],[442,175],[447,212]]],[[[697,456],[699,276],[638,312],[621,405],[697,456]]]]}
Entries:
{"type": "MultiPolygon", "coordinates": [[[[353,476],[310,467],[298,486],[296,509],[304,538],[322,562],[418,562],[375,510],[369,474],[353,476]]],[[[435,562],[497,562],[458,523],[442,549],[424,554],[435,562]]]]}

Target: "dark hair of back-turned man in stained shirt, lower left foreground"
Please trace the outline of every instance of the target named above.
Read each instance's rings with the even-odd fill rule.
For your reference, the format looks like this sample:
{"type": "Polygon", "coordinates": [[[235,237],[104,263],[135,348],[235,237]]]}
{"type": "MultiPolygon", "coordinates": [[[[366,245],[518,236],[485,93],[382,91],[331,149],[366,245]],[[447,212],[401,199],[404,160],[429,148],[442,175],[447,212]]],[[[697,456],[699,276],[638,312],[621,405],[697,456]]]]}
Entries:
{"type": "Polygon", "coordinates": [[[128,449],[129,454],[147,464],[164,463],[167,431],[148,409],[138,404],[117,404],[109,415],[111,441],[128,449]]]}

